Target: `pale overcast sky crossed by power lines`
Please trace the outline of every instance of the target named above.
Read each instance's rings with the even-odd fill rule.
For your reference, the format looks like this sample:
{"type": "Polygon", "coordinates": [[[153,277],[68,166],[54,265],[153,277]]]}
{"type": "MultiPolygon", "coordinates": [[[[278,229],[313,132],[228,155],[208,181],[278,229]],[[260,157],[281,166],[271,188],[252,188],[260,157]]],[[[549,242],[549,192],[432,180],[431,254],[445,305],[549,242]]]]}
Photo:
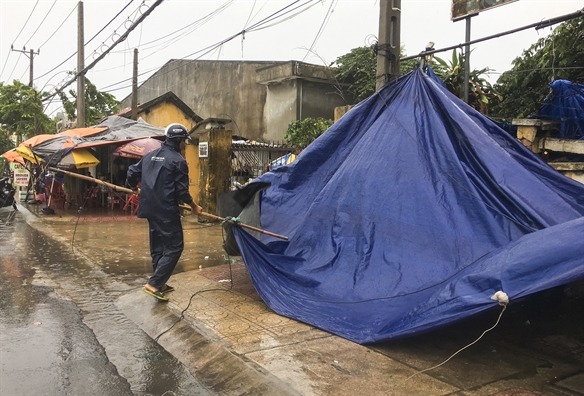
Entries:
{"type": "MultiPolygon", "coordinates": [[[[11,45],[15,50],[26,47],[27,52],[40,49],[40,54],[33,57],[37,89],[54,90],[68,80],[66,72],[77,67],[77,3],[0,0],[0,81],[29,81],[29,58],[11,51],[11,45]],[[70,56],[71,59],[60,65],[70,56]]],[[[154,3],[153,0],[146,1],[146,5],[138,0],[85,0],[85,42],[103,29],[86,45],[85,65],[117,40],[131,21],[154,3]]],[[[428,41],[434,41],[435,48],[464,42],[465,22],[451,21],[451,0],[402,0],[401,3],[401,42],[408,55],[422,51],[428,41]]],[[[517,0],[472,18],[471,38],[489,36],[583,8],[584,0],[517,0]]],[[[87,77],[98,89],[123,99],[131,91],[134,48],[140,53],[139,84],[170,59],[300,60],[328,65],[352,48],[372,44],[378,35],[378,26],[379,0],[165,0],[126,41],[89,71],[87,77]],[[285,7],[289,13],[263,22],[260,30],[249,31],[243,38],[238,36],[211,51],[206,50],[262,23],[285,7]],[[313,49],[312,53],[309,48],[313,49]]],[[[514,58],[550,32],[551,28],[530,29],[478,43],[472,47],[471,67],[491,68],[494,70],[491,81],[495,82],[499,73],[511,68],[514,58]]],[[[450,55],[451,52],[437,54],[448,58],[450,55]]],[[[76,89],[76,85],[70,88],[76,89]]],[[[55,103],[47,112],[58,110],[58,103],[55,103]]]]}

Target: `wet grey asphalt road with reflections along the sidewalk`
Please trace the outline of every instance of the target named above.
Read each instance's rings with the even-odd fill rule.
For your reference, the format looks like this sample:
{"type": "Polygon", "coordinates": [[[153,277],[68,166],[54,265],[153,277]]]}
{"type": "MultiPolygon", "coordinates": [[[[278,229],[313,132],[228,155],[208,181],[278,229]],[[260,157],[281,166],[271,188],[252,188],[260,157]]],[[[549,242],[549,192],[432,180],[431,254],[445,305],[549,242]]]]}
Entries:
{"type": "MultiPolygon", "coordinates": [[[[116,308],[123,290],[111,275],[20,213],[4,224],[8,212],[0,209],[1,395],[211,394],[116,308]]],[[[146,274],[133,276],[142,284],[146,274]]]]}

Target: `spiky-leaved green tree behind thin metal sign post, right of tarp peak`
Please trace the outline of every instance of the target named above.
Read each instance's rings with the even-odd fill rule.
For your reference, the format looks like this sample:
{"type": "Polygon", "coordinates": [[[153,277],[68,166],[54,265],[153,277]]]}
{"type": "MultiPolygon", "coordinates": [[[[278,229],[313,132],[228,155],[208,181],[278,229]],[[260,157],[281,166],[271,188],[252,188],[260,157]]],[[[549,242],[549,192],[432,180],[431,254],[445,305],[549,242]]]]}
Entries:
{"type": "MultiPolygon", "coordinates": [[[[452,59],[446,62],[439,57],[430,61],[430,66],[436,75],[444,82],[446,88],[460,99],[464,99],[464,55],[462,51],[453,50],[452,59]]],[[[489,105],[499,103],[501,96],[491,86],[484,75],[489,68],[469,71],[469,95],[468,104],[483,114],[488,114],[489,105]]]]}

